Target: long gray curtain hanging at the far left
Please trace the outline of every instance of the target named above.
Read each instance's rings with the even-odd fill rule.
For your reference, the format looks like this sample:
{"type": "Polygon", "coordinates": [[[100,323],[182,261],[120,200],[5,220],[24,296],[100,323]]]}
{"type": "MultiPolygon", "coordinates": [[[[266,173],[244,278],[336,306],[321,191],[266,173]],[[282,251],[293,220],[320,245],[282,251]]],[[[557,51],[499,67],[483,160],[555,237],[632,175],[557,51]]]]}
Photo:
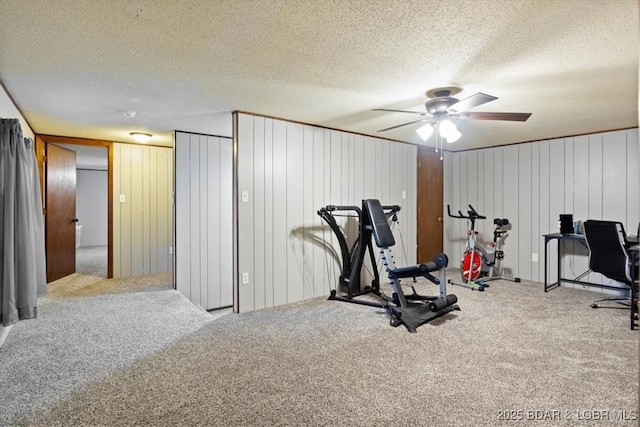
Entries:
{"type": "Polygon", "coordinates": [[[0,120],[0,326],[38,315],[46,289],[44,218],[34,143],[0,120]]]}

